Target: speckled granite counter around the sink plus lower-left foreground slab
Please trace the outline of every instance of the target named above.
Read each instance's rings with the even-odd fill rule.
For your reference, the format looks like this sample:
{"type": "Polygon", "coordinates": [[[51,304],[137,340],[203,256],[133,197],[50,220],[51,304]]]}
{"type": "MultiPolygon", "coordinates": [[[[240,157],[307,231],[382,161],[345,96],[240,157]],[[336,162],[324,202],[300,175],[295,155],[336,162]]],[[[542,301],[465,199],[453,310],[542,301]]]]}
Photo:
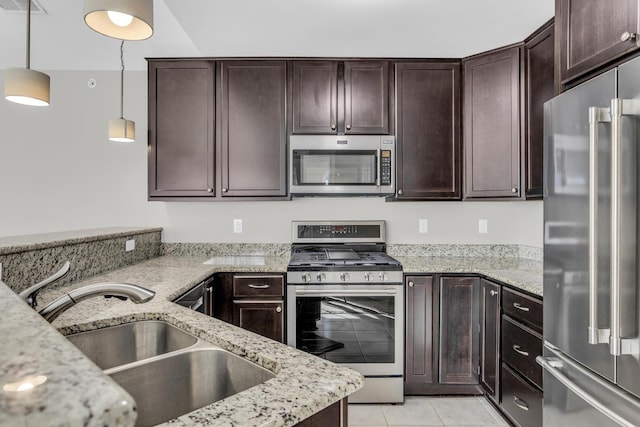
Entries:
{"type": "MultiPolygon", "coordinates": [[[[205,260],[154,258],[43,291],[40,306],[92,283],[135,283],[153,289],[154,299],[139,305],[114,298],[88,299],[63,313],[52,326],[70,334],[134,320],[163,320],[276,373],[263,384],[173,420],[172,426],[291,426],[362,387],[364,379],[356,371],[171,302],[216,271],[284,272],[288,257],[265,257],[264,265],[205,265],[205,260]]],[[[30,374],[33,370],[48,377],[33,390],[38,391],[35,400],[33,396],[9,400],[7,392],[0,391],[0,425],[133,424],[128,394],[1,282],[0,310],[0,383],[22,373],[25,366],[30,374]]]]}

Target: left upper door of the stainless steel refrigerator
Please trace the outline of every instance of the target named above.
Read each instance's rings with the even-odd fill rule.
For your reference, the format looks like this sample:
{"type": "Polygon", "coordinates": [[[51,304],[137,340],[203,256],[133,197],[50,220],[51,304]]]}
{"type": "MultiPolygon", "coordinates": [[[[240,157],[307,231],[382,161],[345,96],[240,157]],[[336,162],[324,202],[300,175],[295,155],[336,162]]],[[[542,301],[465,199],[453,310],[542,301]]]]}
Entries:
{"type": "MultiPolygon", "coordinates": [[[[616,71],[606,72],[545,104],[544,339],[598,374],[614,380],[608,344],[588,343],[589,108],[608,108],[616,71]]],[[[610,323],[610,133],[598,125],[597,321],[610,323]]],[[[545,400],[546,400],[546,384],[545,400]]]]}

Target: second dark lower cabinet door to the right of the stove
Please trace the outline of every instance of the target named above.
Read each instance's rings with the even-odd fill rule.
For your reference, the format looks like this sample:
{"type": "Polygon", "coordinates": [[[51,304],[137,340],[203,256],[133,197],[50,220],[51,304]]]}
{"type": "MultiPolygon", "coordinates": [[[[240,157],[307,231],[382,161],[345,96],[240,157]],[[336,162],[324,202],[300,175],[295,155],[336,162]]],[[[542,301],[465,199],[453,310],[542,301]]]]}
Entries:
{"type": "Polygon", "coordinates": [[[479,280],[440,279],[441,384],[478,384],[479,280]]]}

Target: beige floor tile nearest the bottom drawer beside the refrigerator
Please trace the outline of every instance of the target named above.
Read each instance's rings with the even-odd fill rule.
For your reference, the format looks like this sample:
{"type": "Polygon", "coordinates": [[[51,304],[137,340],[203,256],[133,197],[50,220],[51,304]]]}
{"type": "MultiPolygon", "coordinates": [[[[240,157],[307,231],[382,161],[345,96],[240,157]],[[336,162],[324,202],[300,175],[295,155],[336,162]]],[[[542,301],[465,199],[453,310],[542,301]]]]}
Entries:
{"type": "Polygon", "coordinates": [[[446,426],[491,426],[497,419],[484,404],[475,397],[432,399],[431,405],[446,426]]]}

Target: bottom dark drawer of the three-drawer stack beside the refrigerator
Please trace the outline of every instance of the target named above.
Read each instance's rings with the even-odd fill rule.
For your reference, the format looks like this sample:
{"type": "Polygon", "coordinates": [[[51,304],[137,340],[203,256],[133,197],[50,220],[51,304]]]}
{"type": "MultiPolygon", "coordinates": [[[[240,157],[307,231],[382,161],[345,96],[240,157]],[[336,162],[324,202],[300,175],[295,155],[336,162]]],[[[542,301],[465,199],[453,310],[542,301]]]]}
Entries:
{"type": "Polygon", "coordinates": [[[522,427],[542,427],[542,393],[502,365],[500,406],[522,427]]]}

